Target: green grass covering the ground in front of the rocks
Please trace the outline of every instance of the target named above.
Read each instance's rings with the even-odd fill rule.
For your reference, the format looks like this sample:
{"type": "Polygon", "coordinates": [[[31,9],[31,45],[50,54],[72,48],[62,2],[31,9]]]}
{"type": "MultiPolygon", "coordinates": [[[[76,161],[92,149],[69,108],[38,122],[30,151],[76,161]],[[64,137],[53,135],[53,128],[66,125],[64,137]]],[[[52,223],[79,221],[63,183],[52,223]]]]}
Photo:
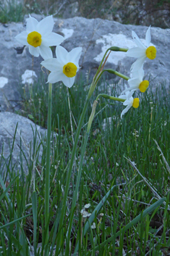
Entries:
{"type": "MultiPolygon", "coordinates": [[[[46,127],[48,99],[46,84],[45,86],[43,84],[45,83],[35,83],[30,86],[30,89],[22,91],[25,93],[23,94],[25,100],[22,102],[24,112],[20,111],[20,113],[28,117],[30,115],[35,123],[46,127]]],[[[102,93],[101,88],[105,93],[111,90],[111,94],[116,94],[116,86],[111,87],[103,81],[103,86],[98,86],[96,95],[99,91],[102,93]]],[[[148,90],[148,93],[144,94],[143,99],[140,100],[140,107],[137,110],[129,110],[122,120],[120,119],[122,104],[110,104],[111,102],[105,99],[101,99],[98,103],[97,115],[92,125],[82,166],[79,199],[75,215],[72,216],[71,239],[67,241],[69,227],[67,220],[71,218],[69,216],[70,206],[80,162],[80,150],[77,150],[75,169],[70,183],[64,226],[62,231],[59,231],[57,227],[61,200],[64,196],[64,184],[67,181],[69,154],[72,152],[74,143],[72,133],[75,133],[75,123],[80,117],[80,108],[85,102],[83,93],[85,86],[82,86],[82,83],[75,84],[67,94],[67,88],[58,83],[53,85],[53,90],[53,129],[54,131],[57,129],[59,135],[51,138],[49,244],[55,245],[56,239],[61,236],[63,243],[60,255],[64,255],[66,245],[64,241],[70,245],[69,255],[75,252],[75,248],[79,248],[80,255],[124,255],[125,253],[127,255],[150,255],[152,253],[163,255],[168,252],[169,172],[153,139],[156,139],[166,162],[169,163],[169,92],[165,91],[163,86],[155,92],[152,89],[148,90]],[[70,112],[72,122],[70,122],[70,112]],[[108,117],[111,117],[111,123],[108,121],[103,130],[103,119],[108,120],[108,117]],[[140,174],[147,178],[150,186],[137,170],[129,165],[127,158],[133,162],[140,174]],[[166,205],[144,218],[143,210],[158,199],[150,187],[154,188],[161,198],[166,197],[166,205]],[[111,188],[113,189],[110,196],[103,201],[103,207],[100,212],[95,213],[93,223],[85,233],[85,228],[89,225],[88,213],[93,212],[111,188]],[[88,207],[87,204],[89,204],[88,207]],[[141,212],[140,222],[125,231],[124,226],[141,212]],[[119,231],[120,233],[116,235],[119,231]],[[112,236],[114,236],[113,240],[102,246],[112,236]]],[[[90,112],[90,107],[88,112],[90,112]]],[[[83,134],[78,144],[80,149],[83,134]]],[[[14,255],[29,255],[33,244],[35,253],[38,244],[43,244],[45,239],[43,168],[46,165],[46,140],[42,138],[41,142],[43,145],[41,162],[38,162],[38,158],[35,157],[35,189],[31,183],[33,176],[33,163],[31,162],[27,162],[29,172],[26,177],[24,166],[21,168],[20,176],[16,176],[14,170],[11,172],[9,168],[7,169],[11,183],[8,183],[5,178],[7,176],[1,173],[4,183],[8,186],[8,193],[0,200],[1,225],[7,225],[4,228],[0,227],[2,255],[9,255],[9,252],[14,255]],[[36,200],[38,205],[35,205],[36,200]],[[20,218],[22,220],[13,222],[20,218]]],[[[2,169],[1,166],[0,170],[2,169]]],[[[3,194],[2,184],[1,181],[0,194],[3,194]]],[[[43,255],[41,249],[46,251],[46,248],[40,247],[35,255],[43,255]]],[[[55,247],[51,249],[50,255],[53,252],[55,252],[55,247]]]]}

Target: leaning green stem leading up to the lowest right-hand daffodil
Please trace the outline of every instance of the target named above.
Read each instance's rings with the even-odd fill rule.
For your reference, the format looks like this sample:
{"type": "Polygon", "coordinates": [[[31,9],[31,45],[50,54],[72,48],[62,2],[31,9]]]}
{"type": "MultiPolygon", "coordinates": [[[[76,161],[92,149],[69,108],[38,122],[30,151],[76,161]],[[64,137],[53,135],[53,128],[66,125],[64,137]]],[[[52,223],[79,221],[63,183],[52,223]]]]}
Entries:
{"type": "MultiPolygon", "coordinates": [[[[90,133],[90,128],[91,128],[91,125],[92,125],[92,122],[93,122],[93,118],[94,118],[94,115],[95,115],[95,108],[96,108],[97,104],[98,104],[98,102],[95,100],[95,102],[93,103],[91,115],[90,115],[89,120],[88,120],[88,128],[87,128],[87,131],[85,133],[85,141],[84,141],[84,144],[82,146],[80,164],[79,164],[79,169],[78,169],[78,172],[77,172],[77,181],[76,181],[76,186],[75,186],[75,192],[74,192],[73,199],[72,199],[71,212],[75,210],[78,189],[79,189],[79,186],[80,186],[80,178],[81,178],[81,175],[82,175],[82,163],[83,163],[83,160],[84,160],[85,149],[86,149],[87,142],[88,142],[88,136],[89,136],[89,133],[90,133]]],[[[71,215],[72,215],[72,213],[71,213],[71,215]]],[[[66,250],[65,250],[65,255],[69,255],[69,239],[70,239],[70,235],[71,235],[71,231],[72,231],[72,228],[71,228],[72,227],[72,220],[73,220],[73,218],[69,220],[69,229],[68,229],[69,232],[67,234],[68,242],[66,243],[67,247],[66,247],[66,250]]]]}

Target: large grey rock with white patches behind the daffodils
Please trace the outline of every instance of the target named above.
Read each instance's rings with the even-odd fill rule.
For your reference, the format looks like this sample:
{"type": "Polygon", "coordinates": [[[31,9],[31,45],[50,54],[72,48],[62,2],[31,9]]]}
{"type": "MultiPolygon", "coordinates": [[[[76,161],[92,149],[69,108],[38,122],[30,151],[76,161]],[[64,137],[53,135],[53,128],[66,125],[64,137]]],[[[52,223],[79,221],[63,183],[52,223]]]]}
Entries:
{"type": "MultiPolygon", "coordinates": [[[[37,20],[41,20],[41,15],[32,15],[37,20]]],[[[25,30],[23,23],[0,24],[0,101],[1,110],[12,110],[20,103],[19,88],[25,83],[30,83],[31,70],[34,71],[33,79],[38,79],[42,74],[40,62],[41,57],[32,57],[26,47],[23,47],[15,40],[14,36],[25,30]]],[[[103,53],[110,46],[132,48],[135,43],[132,40],[132,30],[137,33],[139,38],[145,41],[145,33],[148,29],[145,26],[123,25],[119,22],[91,19],[83,17],[73,17],[65,20],[54,19],[54,32],[64,36],[64,46],[67,51],[71,51],[77,46],[82,46],[82,57],[80,59],[80,71],[77,79],[85,79],[87,74],[93,78],[98,65],[100,64],[103,53]]],[[[169,87],[170,83],[170,48],[169,38],[170,29],[151,28],[151,42],[156,46],[156,59],[147,59],[144,70],[146,78],[154,83],[153,89],[165,82],[169,87]]],[[[106,68],[112,68],[124,75],[129,76],[129,70],[135,58],[126,57],[122,52],[111,52],[106,63],[106,68]]],[[[109,75],[109,74],[108,74],[109,75]]],[[[108,79],[118,77],[109,75],[108,79]]],[[[113,81],[112,81],[113,82],[113,81]]],[[[121,81],[120,81],[121,83],[121,81]]]]}

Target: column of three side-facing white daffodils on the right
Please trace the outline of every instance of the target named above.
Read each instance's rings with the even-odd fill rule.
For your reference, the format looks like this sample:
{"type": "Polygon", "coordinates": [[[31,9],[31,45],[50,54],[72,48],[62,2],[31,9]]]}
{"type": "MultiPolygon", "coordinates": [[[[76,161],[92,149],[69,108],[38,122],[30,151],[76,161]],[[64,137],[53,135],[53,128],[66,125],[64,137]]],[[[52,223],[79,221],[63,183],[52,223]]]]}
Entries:
{"type": "Polygon", "coordinates": [[[130,107],[139,107],[139,99],[135,98],[133,99],[132,94],[136,90],[140,90],[141,92],[145,92],[146,89],[149,86],[148,80],[143,80],[144,76],[144,70],[143,70],[143,63],[145,59],[148,57],[148,59],[155,59],[156,58],[156,48],[155,46],[150,45],[151,36],[150,36],[150,27],[148,28],[146,35],[145,35],[145,43],[146,46],[140,41],[140,38],[138,38],[137,34],[132,31],[132,38],[135,41],[135,44],[137,44],[137,47],[129,49],[127,51],[128,57],[137,57],[137,60],[132,64],[131,67],[131,74],[129,80],[127,81],[129,84],[129,88],[127,88],[124,91],[122,91],[122,94],[120,95],[120,99],[125,99],[124,106],[127,106],[121,113],[124,115],[130,107]]]}

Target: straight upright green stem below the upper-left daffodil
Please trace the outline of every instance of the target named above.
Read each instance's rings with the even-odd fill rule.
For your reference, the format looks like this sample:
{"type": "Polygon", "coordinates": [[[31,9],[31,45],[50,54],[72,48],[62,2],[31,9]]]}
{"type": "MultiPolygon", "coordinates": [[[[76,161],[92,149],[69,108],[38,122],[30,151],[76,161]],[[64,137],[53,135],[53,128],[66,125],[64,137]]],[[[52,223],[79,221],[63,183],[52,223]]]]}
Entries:
{"type": "Polygon", "coordinates": [[[47,141],[46,141],[46,180],[45,180],[45,227],[46,239],[48,243],[48,219],[49,219],[49,193],[50,193],[50,142],[51,142],[51,106],[52,106],[52,83],[48,84],[48,123],[47,123],[47,141]]]}

